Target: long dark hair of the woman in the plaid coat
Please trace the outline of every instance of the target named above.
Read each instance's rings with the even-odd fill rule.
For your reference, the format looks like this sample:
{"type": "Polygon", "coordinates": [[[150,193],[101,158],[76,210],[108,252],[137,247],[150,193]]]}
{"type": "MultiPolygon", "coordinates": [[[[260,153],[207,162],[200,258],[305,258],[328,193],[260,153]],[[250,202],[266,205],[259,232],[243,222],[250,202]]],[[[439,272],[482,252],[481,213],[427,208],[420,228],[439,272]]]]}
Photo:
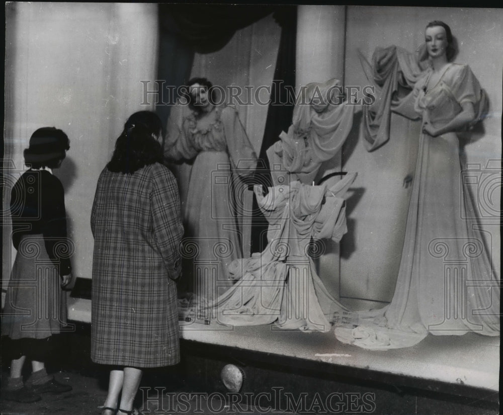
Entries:
{"type": "Polygon", "coordinates": [[[122,134],[115,143],[114,154],[107,164],[114,173],[134,173],[146,165],[162,162],[162,147],[152,137],[162,131],[157,114],[139,111],[124,124],[122,134]]]}

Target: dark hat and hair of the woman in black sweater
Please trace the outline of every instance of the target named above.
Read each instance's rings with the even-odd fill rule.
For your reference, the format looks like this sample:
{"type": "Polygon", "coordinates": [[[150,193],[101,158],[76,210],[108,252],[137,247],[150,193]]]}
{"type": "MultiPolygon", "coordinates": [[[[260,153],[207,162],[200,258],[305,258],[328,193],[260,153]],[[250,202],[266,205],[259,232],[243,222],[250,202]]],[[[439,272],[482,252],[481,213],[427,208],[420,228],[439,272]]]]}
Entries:
{"type": "Polygon", "coordinates": [[[43,163],[64,158],[70,148],[68,136],[55,127],[43,127],[30,137],[30,146],[25,149],[25,163],[43,163]]]}

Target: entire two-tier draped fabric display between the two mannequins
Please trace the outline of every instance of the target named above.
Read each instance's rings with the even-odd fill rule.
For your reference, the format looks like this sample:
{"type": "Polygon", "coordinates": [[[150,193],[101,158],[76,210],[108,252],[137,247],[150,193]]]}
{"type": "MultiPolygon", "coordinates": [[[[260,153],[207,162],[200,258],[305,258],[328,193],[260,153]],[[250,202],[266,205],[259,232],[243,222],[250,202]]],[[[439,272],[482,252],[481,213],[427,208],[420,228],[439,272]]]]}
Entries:
{"type": "Polygon", "coordinates": [[[344,194],[356,173],[330,187],[310,185],[321,163],[340,150],[351,129],[355,107],[331,101],[339,85],[337,79],[308,85],[294,109],[289,135],[281,134],[281,141],[268,151],[271,164],[286,173],[273,169],[275,186],[267,195],[262,186],[254,187],[269,221],[266,248],[249,259],[234,260],[228,274],[236,284],[207,308],[189,304],[189,314],[222,324],[274,322],[280,328],[305,331],[356,322],[356,315],[328,293],[309,256],[312,239],[339,242],[347,231],[344,194]],[[314,101],[316,92],[326,100],[314,101]]]}

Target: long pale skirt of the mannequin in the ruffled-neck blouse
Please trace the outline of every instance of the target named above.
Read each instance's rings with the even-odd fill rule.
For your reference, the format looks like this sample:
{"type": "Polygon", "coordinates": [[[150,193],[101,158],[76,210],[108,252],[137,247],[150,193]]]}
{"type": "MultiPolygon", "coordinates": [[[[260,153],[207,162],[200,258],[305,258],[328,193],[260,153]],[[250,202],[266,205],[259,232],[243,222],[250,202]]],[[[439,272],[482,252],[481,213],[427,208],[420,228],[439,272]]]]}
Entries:
{"type": "Polygon", "coordinates": [[[189,180],[182,278],[187,290],[206,305],[232,286],[228,266],[241,258],[241,235],[227,153],[200,152],[189,180]]]}

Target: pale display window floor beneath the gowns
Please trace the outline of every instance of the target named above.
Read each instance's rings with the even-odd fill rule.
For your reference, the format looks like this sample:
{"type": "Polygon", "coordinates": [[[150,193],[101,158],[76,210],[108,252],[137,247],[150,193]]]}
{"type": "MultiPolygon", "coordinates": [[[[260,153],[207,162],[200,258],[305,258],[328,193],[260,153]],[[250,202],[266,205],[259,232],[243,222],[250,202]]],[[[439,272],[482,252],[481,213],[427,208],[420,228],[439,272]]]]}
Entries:
{"type": "MultiPolygon", "coordinates": [[[[91,301],[70,298],[68,318],[90,323],[91,301]]],[[[186,341],[257,352],[272,360],[286,358],[290,364],[296,360],[299,366],[316,366],[334,374],[344,370],[366,379],[399,377],[408,385],[435,384],[444,392],[475,388],[497,396],[499,391],[499,337],[430,335],[410,348],[368,351],[339,342],[333,330],[303,333],[274,325],[229,327],[195,322],[181,322],[180,328],[186,341]]]]}

